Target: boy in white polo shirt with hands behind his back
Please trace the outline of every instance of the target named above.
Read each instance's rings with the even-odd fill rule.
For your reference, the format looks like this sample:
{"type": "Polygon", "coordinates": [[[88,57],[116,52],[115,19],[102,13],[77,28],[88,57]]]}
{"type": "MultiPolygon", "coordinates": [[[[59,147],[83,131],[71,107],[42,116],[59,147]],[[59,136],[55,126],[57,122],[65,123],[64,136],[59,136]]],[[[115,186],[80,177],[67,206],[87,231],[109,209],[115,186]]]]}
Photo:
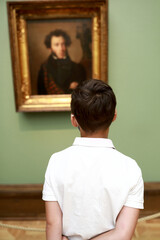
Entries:
{"type": "Polygon", "coordinates": [[[81,137],[52,155],[45,175],[47,240],[130,240],[143,208],[137,163],[108,139],[116,98],[89,80],[72,93],[71,122],[81,137]]]}

